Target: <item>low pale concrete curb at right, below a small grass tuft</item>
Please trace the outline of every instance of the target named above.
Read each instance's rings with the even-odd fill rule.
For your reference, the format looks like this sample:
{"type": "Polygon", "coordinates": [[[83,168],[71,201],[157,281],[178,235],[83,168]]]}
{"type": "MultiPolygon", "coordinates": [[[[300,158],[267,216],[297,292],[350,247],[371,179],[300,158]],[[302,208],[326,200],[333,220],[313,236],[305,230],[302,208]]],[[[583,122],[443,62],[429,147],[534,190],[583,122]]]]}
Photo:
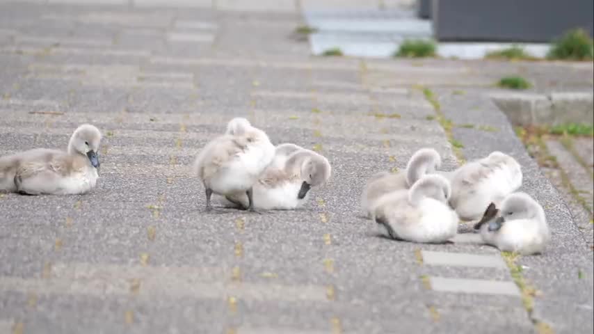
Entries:
{"type": "Polygon", "coordinates": [[[494,93],[490,97],[513,125],[593,122],[593,93],[494,93]]]}

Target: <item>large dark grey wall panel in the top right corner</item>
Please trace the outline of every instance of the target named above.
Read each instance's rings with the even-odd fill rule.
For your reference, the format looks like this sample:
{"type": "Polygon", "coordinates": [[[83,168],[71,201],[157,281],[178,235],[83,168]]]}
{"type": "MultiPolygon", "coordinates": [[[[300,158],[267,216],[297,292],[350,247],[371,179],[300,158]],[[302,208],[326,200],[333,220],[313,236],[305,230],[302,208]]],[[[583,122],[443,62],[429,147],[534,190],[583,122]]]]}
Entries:
{"type": "Polygon", "coordinates": [[[581,27],[593,35],[593,0],[433,0],[437,40],[550,42],[581,27]]]}

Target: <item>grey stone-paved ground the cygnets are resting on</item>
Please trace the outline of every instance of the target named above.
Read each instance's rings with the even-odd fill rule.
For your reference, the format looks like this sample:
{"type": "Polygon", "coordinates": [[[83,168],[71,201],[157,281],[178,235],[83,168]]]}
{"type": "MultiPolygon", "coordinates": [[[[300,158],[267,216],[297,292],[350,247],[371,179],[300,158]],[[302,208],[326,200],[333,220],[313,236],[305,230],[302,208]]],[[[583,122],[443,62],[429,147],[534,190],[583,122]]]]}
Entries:
{"type": "Polygon", "coordinates": [[[291,38],[307,1],[94,3],[0,1],[0,154],[105,135],[93,193],[0,197],[0,333],[593,331],[592,250],[488,98],[516,72],[591,89],[591,64],[311,58],[291,38]],[[233,116],[326,154],[330,184],[296,212],[204,214],[188,166],[233,116]],[[473,234],[410,244],[361,218],[372,173],[425,146],[458,164],[436,116],[473,125],[452,130],[466,159],[517,157],[545,206],[552,244],[518,260],[533,312],[473,234]]]}

